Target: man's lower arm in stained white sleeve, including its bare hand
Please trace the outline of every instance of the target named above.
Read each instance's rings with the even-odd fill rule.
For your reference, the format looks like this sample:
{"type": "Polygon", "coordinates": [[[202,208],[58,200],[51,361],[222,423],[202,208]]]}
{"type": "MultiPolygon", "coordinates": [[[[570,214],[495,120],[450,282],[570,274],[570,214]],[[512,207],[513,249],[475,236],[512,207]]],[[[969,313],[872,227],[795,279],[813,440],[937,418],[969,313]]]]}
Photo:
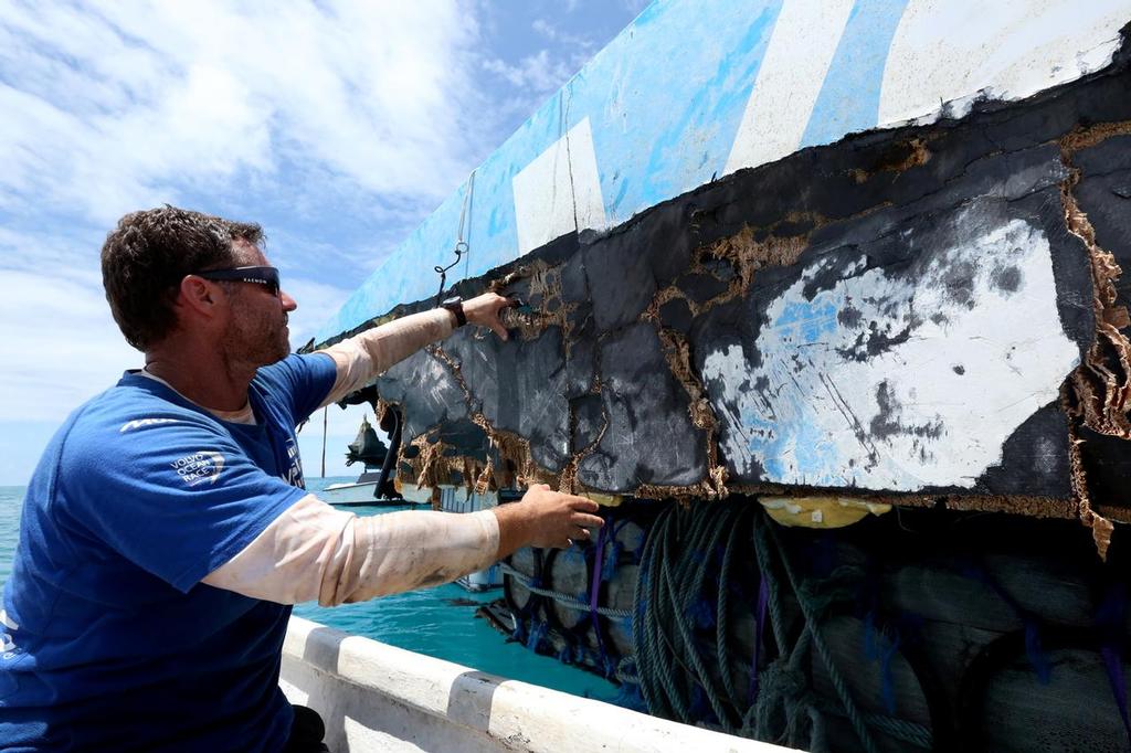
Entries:
{"type": "Polygon", "coordinates": [[[308,494],[204,582],[280,604],[364,601],[450,582],[523,546],[587,539],[602,525],[597,509],[544,484],[520,502],[473,513],[359,518],[308,494]]]}

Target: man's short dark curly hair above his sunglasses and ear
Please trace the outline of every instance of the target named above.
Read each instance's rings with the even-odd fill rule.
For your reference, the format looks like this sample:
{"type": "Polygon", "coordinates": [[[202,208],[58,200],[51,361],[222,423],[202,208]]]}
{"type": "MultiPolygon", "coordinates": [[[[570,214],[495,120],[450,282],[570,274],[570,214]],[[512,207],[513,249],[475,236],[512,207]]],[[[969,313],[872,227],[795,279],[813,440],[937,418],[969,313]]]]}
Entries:
{"type": "Polygon", "coordinates": [[[143,352],[163,340],[181,280],[238,266],[235,240],[261,245],[264,230],[169,205],[122,217],[102,246],[102,285],[126,340],[143,352]]]}

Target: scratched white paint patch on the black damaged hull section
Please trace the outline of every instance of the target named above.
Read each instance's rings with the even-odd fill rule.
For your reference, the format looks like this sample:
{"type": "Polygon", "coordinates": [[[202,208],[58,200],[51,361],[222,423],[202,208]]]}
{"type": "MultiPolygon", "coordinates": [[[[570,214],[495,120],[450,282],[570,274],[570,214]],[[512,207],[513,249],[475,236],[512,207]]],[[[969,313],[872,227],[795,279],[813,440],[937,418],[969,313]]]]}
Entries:
{"type": "Polygon", "coordinates": [[[808,301],[802,289],[828,263],[768,306],[760,366],[736,344],[706,355],[705,381],[729,406],[715,401],[720,448],[740,473],[757,462],[783,484],[970,487],[1079,362],[1048,241],[1022,220],[947,249],[917,277],[863,271],[861,258],[808,301]],[[882,353],[851,355],[862,335],[905,330],[882,353]]]}

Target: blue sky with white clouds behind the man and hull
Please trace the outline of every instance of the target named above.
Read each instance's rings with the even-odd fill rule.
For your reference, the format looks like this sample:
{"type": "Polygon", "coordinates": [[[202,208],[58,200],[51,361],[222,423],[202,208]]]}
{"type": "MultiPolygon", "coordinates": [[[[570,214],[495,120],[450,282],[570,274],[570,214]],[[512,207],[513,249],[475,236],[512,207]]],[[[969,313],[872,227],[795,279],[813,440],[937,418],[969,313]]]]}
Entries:
{"type": "MultiPolygon", "coordinates": [[[[0,0],[0,485],[143,364],[98,268],[123,214],[260,223],[299,347],[645,5],[0,0]]],[[[363,413],[330,408],[327,475],[363,413]]]]}

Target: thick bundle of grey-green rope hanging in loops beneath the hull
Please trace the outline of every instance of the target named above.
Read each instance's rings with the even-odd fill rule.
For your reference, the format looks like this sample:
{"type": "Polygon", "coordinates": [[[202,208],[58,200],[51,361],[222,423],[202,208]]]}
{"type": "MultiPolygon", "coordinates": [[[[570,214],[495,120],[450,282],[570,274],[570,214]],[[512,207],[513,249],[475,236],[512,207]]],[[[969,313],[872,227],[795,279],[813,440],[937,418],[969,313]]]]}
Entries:
{"type": "Polygon", "coordinates": [[[840,566],[820,579],[802,578],[772,525],[749,501],[696,509],[670,505],[645,542],[632,623],[637,677],[649,711],[791,747],[829,750],[829,710],[822,708],[828,703],[810,678],[815,654],[838,701],[832,713],[848,719],[865,753],[880,750],[873,729],[931,750],[935,741],[929,727],[865,713],[856,704],[824,641],[822,621],[835,605],[855,603],[861,579],[856,566],[840,566]],[[751,544],[754,583],[745,582],[745,571],[739,574],[739,563],[751,559],[751,544]],[[783,588],[792,592],[797,605],[792,614],[800,611],[800,620],[785,608],[783,588]],[[732,674],[733,667],[743,666],[734,661],[732,643],[736,603],[749,605],[756,622],[745,687],[732,674]],[[777,656],[763,667],[762,639],[769,641],[770,635],[777,656]]]}

